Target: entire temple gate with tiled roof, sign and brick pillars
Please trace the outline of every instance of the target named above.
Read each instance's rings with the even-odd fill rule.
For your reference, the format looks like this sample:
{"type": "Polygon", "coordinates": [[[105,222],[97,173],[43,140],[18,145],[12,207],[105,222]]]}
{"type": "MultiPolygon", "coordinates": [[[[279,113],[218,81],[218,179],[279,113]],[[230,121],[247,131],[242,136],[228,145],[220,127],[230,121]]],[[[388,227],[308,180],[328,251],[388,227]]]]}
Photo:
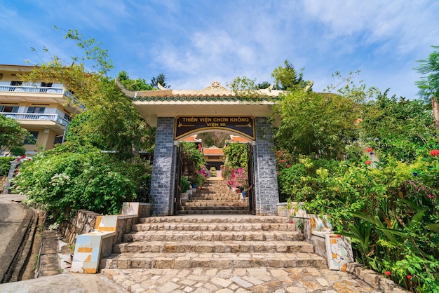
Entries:
{"type": "Polygon", "coordinates": [[[270,106],[279,90],[258,90],[253,97],[236,95],[214,81],[203,90],[148,90],[132,92],[118,84],[133,100],[145,121],[156,127],[151,176],[152,214],[175,214],[179,142],[192,134],[222,130],[250,139],[254,197],[249,199],[258,215],[276,215],[278,184],[270,106]],[[256,97],[254,97],[256,96],[256,97]]]}

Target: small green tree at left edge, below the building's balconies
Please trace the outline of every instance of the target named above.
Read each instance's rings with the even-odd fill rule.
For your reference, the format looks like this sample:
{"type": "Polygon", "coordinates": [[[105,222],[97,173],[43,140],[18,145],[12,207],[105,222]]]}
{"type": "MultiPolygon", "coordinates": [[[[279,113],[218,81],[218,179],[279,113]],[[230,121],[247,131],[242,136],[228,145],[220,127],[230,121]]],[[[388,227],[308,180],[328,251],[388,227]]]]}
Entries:
{"type": "Polygon", "coordinates": [[[25,139],[33,139],[29,131],[20,126],[13,118],[0,115],[0,153],[6,150],[14,154],[22,149],[25,139]]]}

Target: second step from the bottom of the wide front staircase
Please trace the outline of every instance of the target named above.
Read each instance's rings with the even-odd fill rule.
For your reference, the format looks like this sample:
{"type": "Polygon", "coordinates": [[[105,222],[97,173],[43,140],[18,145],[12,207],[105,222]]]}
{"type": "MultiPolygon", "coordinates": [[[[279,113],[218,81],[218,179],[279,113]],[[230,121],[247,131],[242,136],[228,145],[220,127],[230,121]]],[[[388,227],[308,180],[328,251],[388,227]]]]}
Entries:
{"type": "Polygon", "coordinates": [[[207,253],[291,253],[314,252],[311,243],[304,241],[186,241],[186,242],[161,242],[145,241],[134,243],[119,243],[114,245],[113,253],[149,253],[149,252],[207,252],[207,253]]]}

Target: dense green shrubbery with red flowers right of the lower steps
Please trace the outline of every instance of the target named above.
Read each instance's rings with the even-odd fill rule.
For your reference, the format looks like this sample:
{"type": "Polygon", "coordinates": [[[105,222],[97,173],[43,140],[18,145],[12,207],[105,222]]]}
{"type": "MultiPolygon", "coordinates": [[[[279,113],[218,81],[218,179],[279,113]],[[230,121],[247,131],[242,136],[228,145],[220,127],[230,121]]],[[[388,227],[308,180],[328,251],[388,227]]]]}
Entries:
{"type": "Polygon", "coordinates": [[[357,261],[414,292],[438,292],[439,160],[374,164],[302,158],[280,172],[280,188],[327,214],[357,261]]]}

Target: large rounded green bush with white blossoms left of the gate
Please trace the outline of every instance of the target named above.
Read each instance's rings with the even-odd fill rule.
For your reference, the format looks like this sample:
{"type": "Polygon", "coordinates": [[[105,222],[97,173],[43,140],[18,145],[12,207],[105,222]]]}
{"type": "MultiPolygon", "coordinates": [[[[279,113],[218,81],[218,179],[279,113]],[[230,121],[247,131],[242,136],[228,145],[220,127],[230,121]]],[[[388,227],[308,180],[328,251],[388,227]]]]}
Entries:
{"type": "Polygon", "coordinates": [[[16,193],[27,194],[29,205],[60,222],[79,209],[117,214],[123,201],[136,198],[136,187],[144,179],[139,175],[148,172],[142,163],[67,143],[22,163],[13,184],[16,193]]]}

